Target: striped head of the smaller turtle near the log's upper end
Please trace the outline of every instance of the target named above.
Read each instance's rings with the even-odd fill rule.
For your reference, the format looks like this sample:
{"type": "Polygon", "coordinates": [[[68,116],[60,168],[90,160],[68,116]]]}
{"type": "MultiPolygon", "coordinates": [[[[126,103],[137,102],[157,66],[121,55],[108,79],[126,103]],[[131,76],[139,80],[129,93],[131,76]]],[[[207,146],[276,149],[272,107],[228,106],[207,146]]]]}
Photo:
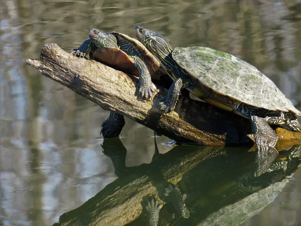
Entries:
{"type": "Polygon", "coordinates": [[[98,47],[98,48],[118,48],[116,37],[108,32],[100,31],[98,29],[90,28],[88,35],[90,40],[98,47]]]}

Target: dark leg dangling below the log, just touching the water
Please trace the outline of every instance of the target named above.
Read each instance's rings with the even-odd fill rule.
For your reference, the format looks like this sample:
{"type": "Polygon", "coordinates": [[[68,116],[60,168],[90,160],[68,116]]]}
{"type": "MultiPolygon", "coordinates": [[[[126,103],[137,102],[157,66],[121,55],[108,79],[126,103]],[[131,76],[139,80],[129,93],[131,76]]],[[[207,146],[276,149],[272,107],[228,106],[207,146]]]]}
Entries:
{"type": "Polygon", "coordinates": [[[123,115],[110,112],[109,118],[101,124],[100,133],[102,133],[104,138],[118,137],[125,124],[123,115]]]}

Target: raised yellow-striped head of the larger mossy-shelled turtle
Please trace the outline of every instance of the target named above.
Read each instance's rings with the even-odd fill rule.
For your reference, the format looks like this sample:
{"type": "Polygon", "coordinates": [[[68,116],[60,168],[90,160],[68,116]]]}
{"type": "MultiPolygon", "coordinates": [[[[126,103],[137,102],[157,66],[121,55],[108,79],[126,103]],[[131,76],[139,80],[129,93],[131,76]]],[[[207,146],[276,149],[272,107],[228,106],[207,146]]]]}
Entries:
{"type": "Polygon", "coordinates": [[[138,40],[158,58],[165,58],[172,52],[169,42],[162,35],[140,26],[136,27],[135,33],[138,40]]]}

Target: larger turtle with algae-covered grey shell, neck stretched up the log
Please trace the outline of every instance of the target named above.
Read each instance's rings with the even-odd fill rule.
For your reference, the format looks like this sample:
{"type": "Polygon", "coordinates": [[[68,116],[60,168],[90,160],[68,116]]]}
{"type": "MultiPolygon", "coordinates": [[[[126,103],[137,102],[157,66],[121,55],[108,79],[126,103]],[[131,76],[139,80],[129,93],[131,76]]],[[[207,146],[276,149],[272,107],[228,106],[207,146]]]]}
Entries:
{"type": "Polygon", "coordinates": [[[177,47],[162,35],[137,26],[138,40],[170,70],[174,80],[158,105],[164,113],[175,108],[182,88],[218,108],[251,121],[258,156],[267,156],[278,137],[269,124],[285,124],[301,132],[296,115],[301,112],[275,83],[255,66],[231,54],[209,47],[177,47]]]}

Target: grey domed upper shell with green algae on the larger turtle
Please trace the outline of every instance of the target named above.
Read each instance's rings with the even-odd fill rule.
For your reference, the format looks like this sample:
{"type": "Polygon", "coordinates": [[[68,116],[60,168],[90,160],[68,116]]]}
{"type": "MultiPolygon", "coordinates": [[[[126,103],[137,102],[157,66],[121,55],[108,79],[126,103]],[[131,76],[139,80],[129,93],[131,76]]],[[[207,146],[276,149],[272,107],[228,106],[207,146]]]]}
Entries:
{"type": "Polygon", "coordinates": [[[172,57],[190,74],[196,86],[205,84],[219,94],[248,105],[301,115],[272,80],[233,55],[195,46],[175,48],[172,57]]]}

